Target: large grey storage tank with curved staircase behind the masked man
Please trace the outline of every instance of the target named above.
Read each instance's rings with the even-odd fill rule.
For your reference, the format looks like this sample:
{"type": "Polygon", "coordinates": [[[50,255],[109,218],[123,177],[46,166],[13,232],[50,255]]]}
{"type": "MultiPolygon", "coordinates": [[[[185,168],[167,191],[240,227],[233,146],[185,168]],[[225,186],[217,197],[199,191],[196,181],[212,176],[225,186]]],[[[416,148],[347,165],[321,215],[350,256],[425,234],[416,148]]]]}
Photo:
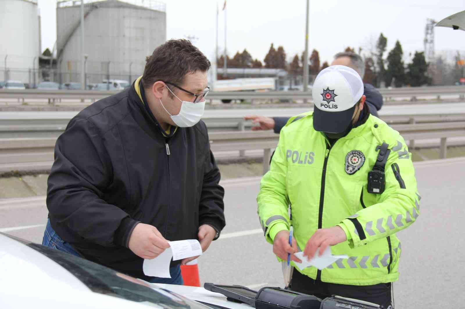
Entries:
{"type": "MultiPolygon", "coordinates": [[[[145,59],[166,41],[166,5],[154,0],[85,0],[86,84],[132,82],[145,59]],[[130,77],[131,75],[131,77],[130,77]]],[[[57,59],[61,82],[80,82],[80,1],[57,2],[57,59]]]]}

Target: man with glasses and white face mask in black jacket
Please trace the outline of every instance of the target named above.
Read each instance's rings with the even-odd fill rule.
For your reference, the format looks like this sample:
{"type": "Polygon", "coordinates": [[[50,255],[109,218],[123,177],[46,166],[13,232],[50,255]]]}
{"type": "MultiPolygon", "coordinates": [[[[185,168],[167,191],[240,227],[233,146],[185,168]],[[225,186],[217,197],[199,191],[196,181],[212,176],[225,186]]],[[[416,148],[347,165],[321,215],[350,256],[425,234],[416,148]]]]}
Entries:
{"type": "Polygon", "coordinates": [[[219,169],[200,121],[210,62],[191,42],[169,40],[144,74],[93,103],[68,124],[48,178],[43,245],[153,283],[144,259],[167,241],[199,239],[205,251],[225,226],[219,169]]]}

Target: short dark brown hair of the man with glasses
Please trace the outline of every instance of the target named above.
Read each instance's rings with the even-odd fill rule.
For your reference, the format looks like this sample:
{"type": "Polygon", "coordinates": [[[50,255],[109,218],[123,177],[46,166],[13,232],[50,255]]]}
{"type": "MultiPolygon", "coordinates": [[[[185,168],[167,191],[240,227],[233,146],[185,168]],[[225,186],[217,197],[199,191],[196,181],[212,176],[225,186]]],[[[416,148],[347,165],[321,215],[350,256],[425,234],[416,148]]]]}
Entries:
{"type": "Polygon", "coordinates": [[[146,58],[142,85],[148,88],[160,80],[182,84],[188,73],[208,71],[210,61],[186,39],[171,39],[146,58]]]}

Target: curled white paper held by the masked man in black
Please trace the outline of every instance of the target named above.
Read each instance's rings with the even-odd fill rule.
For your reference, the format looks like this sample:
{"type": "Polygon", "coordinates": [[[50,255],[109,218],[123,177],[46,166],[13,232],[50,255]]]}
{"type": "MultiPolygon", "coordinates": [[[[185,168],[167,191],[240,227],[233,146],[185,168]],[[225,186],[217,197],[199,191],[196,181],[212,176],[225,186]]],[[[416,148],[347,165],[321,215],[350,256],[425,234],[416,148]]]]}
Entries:
{"type": "Polygon", "coordinates": [[[142,269],[146,276],[171,278],[170,263],[172,258],[173,261],[177,261],[202,255],[202,247],[197,239],[169,241],[168,244],[170,247],[158,257],[144,260],[142,269]]]}

